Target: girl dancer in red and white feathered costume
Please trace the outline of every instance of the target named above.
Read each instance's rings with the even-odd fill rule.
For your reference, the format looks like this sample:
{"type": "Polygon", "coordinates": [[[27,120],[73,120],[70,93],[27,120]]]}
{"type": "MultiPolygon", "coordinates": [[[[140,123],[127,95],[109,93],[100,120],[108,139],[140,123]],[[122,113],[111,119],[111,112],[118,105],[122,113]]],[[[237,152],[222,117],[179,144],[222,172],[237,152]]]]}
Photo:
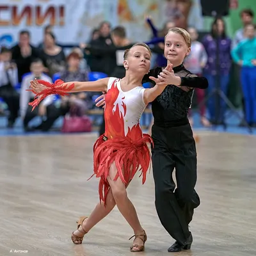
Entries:
{"type": "MultiPolygon", "coordinates": [[[[137,170],[141,170],[143,183],[150,165],[150,150],[147,143],[152,143],[148,134],[143,134],[139,120],[148,102],[160,95],[166,84],[159,83],[154,88],[145,89],[141,86],[142,78],[150,68],[151,52],[145,44],[135,44],[124,53],[126,74],[123,79],[108,77],[94,82],[57,81],[47,84],[44,81],[31,81],[31,91],[37,99],[31,103],[35,106],[45,95],[67,92],[108,92],[106,96],[105,122],[106,132],[95,142],[93,147],[93,170],[99,181],[100,200],[88,218],[78,221],[78,229],[72,233],[72,241],[81,244],[84,234],[102,220],[117,205],[125,220],[134,230],[134,243],[130,250],[141,252],[147,235],[127,196],[126,188],[137,170]],[[46,85],[46,86],[45,86],[46,85]]],[[[172,65],[166,67],[167,74],[175,76],[172,65]]],[[[170,77],[171,77],[170,76],[170,77]]],[[[156,80],[154,77],[151,77],[156,80]]]]}

